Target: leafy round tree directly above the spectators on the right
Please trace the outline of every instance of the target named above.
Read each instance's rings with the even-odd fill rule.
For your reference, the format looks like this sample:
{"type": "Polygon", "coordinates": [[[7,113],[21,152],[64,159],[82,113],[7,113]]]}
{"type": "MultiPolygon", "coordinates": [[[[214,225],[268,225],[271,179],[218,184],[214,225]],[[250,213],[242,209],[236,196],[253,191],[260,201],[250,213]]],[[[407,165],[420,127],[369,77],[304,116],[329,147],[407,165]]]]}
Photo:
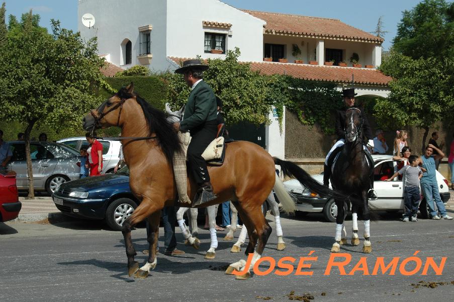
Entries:
{"type": "Polygon", "coordinates": [[[388,99],[378,99],[374,107],[377,122],[384,127],[414,125],[425,130],[436,122],[454,119],[454,60],[413,59],[391,51],[380,70],[393,77],[388,99]]]}

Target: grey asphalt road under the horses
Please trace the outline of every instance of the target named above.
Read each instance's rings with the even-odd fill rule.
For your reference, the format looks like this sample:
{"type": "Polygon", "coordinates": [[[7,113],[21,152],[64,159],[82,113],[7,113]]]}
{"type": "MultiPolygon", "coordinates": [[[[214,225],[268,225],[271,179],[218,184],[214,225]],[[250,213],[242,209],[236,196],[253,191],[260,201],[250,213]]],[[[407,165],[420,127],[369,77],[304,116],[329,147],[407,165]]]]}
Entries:
{"type": "MultiPolygon", "coordinates": [[[[452,214],[451,209],[449,212],[452,214]]],[[[233,242],[222,241],[225,232],[218,233],[215,260],[204,259],[209,248],[208,231],[201,231],[199,251],[183,246],[183,237],[178,232],[178,248],[186,254],[181,257],[159,254],[157,267],[147,279],[133,279],[127,275],[122,234],[107,230],[101,222],[68,219],[52,223],[0,223],[0,301],[263,300],[256,296],[284,301],[289,300],[287,295],[292,290],[295,295],[310,293],[315,302],[452,299],[454,221],[404,223],[399,221],[399,216],[386,214],[371,223],[372,254],[362,253],[362,242],[359,247],[341,247],[341,252],[352,257],[351,263],[345,266],[346,272],[351,271],[360,257],[367,257],[372,273],[377,257],[384,257],[385,263],[393,257],[401,257],[400,264],[415,251],[420,251],[418,256],[423,266],[427,257],[434,257],[436,263],[441,257],[447,257],[442,275],[435,275],[429,269],[427,275],[421,276],[421,269],[415,275],[405,276],[399,268],[395,275],[363,275],[362,271],[339,275],[337,268],[333,268],[330,275],[324,275],[335,230],[334,224],[323,222],[320,215],[282,218],[286,250],[276,250],[273,233],[263,255],[298,259],[313,250],[312,256],[318,260],[313,262],[312,269],[306,270],[312,270],[312,276],[269,274],[254,275],[248,280],[235,280],[234,276],[224,274],[225,266],[245,259],[243,253],[229,252],[233,242]],[[447,284],[430,288],[422,286],[424,283],[420,281],[447,284]]],[[[274,222],[270,221],[270,225],[274,227],[274,222]]],[[[350,228],[351,221],[348,220],[347,230],[350,228]]],[[[362,230],[362,223],[359,223],[359,234],[362,230]]],[[[162,229],[160,231],[162,235],[162,229]]],[[[134,231],[133,240],[138,251],[136,260],[144,262],[146,256],[140,251],[147,248],[145,229],[134,231]]],[[[260,269],[267,267],[268,264],[263,263],[260,269]]],[[[409,264],[406,268],[411,270],[413,267],[409,264]]]]}

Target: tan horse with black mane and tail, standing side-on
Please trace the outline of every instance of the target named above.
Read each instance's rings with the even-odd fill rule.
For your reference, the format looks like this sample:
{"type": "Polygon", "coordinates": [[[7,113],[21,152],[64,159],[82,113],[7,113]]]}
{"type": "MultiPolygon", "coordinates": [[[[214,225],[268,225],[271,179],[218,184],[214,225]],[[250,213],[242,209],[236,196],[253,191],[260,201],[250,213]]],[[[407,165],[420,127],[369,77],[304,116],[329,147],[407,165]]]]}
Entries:
{"type": "MultiPolygon", "coordinates": [[[[149,270],[156,267],[157,263],[160,211],[164,206],[175,204],[176,186],[171,163],[175,150],[181,146],[173,125],[166,120],[165,113],[141,99],[133,92],[133,88],[131,83],[106,100],[97,110],[91,110],[83,118],[83,128],[121,128],[124,136],[123,154],[130,171],[131,191],[141,201],[124,221],[122,228],[128,273],[130,276],[146,278],[149,270]],[[151,232],[147,238],[150,253],[147,263],[139,268],[138,262],[134,261],[136,251],[132,244],[131,230],[144,219],[148,219],[150,225],[151,232]]],[[[203,206],[226,200],[233,202],[249,235],[246,255],[254,254],[250,268],[260,258],[271,233],[260,207],[275,185],[275,164],[281,166],[285,175],[294,175],[305,187],[322,196],[340,199],[343,196],[322,186],[295,164],[273,159],[254,143],[234,141],[227,144],[224,164],[208,168],[217,198],[203,206]]],[[[188,195],[193,199],[197,184],[191,178],[188,183],[188,195]]],[[[293,203],[292,205],[294,206],[293,203]]],[[[244,260],[235,262],[232,269],[226,273],[231,273],[233,269],[241,270],[244,266],[244,260]]],[[[250,272],[247,270],[236,278],[245,279],[249,276],[250,272]]]]}

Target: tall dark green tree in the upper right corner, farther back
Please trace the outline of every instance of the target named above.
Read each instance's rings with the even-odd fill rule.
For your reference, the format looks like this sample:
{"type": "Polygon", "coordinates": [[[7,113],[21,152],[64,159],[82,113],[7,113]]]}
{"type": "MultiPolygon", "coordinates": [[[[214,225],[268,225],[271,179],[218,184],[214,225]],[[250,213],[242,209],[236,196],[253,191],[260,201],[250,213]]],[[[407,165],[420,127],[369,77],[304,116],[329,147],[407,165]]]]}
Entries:
{"type": "Polygon", "coordinates": [[[424,0],[411,11],[404,11],[393,44],[394,50],[414,59],[454,58],[452,4],[424,0]]]}

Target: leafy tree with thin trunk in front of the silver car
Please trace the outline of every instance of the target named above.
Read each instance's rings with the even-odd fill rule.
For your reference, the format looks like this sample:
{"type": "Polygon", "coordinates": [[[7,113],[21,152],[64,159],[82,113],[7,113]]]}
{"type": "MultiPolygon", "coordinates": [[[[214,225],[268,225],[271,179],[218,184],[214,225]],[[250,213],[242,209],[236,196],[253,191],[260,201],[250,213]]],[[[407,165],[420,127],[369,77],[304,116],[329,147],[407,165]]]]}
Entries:
{"type": "Polygon", "coordinates": [[[80,117],[100,101],[94,88],[102,81],[104,59],[97,54],[96,39],[84,41],[80,33],[61,29],[58,21],[51,20],[50,35],[33,24],[33,18],[23,20],[21,26],[10,22],[7,41],[0,46],[0,118],[26,125],[29,197],[33,198],[30,132],[37,123],[80,127],[80,117]]]}

